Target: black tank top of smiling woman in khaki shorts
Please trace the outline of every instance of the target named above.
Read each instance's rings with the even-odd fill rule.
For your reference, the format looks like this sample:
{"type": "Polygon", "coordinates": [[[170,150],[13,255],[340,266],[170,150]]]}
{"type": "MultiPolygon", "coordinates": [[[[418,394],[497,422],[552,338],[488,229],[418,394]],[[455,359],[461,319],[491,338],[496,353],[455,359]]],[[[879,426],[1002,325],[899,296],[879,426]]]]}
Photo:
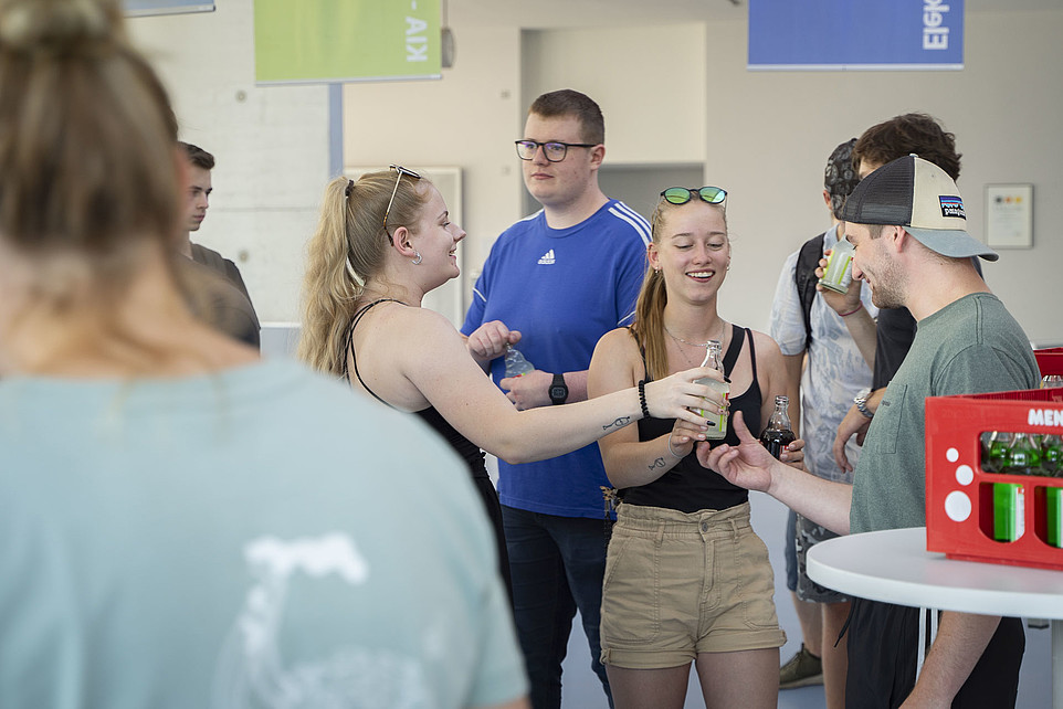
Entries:
{"type": "MultiPolygon", "coordinates": [[[[732,419],[734,419],[736,411],[741,412],[743,419],[748,425],[760,426],[762,396],[760,382],[757,380],[757,351],[752,345],[752,332],[737,325],[732,325],[730,347],[724,354],[724,374],[729,377],[732,370],[735,369],[735,363],[738,361],[738,354],[741,352],[741,346],[747,336],[749,338],[749,358],[752,361],[752,382],[749,384],[749,389],[737,396],[730,398],[727,436],[723,441],[709,441],[708,443],[713,447],[720,443],[738,445],[738,435],[732,425],[732,419]]],[[[643,354],[644,364],[645,354],[643,354]]],[[[674,419],[642,419],[639,421],[639,440],[652,441],[657,436],[667,435],[674,425],[674,419]]],[[[693,451],[656,480],[648,485],[629,487],[622,490],[622,496],[625,504],[663,507],[681,512],[727,509],[741,505],[749,499],[748,490],[732,485],[715,470],[702,467],[693,451]]]]}

